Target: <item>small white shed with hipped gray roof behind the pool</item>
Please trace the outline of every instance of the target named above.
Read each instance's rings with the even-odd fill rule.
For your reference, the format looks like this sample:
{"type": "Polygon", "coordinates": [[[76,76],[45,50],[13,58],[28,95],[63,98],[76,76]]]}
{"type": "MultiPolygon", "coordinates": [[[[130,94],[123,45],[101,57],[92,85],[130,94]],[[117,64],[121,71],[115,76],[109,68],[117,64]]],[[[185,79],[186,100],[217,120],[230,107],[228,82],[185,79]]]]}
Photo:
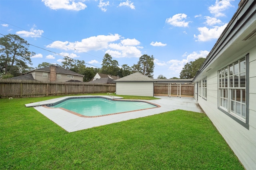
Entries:
{"type": "Polygon", "coordinates": [[[154,79],[138,72],[114,80],[116,94],[128,96],[154,96],[154,79]]]}

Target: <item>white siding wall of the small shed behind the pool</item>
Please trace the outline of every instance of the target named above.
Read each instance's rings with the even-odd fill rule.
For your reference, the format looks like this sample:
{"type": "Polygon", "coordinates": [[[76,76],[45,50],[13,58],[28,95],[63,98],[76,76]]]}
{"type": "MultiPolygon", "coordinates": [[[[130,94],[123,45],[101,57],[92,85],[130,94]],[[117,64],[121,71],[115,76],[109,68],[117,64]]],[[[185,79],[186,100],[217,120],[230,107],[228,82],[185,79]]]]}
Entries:
{"type": "Polygon", "coordinates": [[[154,96],[153,82],[116,82],[116,94],[128,96],[154,96]]]}

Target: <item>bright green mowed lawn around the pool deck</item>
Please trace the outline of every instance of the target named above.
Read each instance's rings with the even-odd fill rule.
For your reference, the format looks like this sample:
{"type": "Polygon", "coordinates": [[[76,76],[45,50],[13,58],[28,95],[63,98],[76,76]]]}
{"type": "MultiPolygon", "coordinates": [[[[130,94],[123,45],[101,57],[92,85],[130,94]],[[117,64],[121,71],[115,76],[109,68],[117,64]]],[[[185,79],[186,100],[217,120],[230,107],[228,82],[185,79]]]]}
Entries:
{"type": "Polygon", "coordinates": [[[176,110],[68,133],[24,106],[52,98],[0,99],[0,169],[244,169],[203,113],[176,110]]]}

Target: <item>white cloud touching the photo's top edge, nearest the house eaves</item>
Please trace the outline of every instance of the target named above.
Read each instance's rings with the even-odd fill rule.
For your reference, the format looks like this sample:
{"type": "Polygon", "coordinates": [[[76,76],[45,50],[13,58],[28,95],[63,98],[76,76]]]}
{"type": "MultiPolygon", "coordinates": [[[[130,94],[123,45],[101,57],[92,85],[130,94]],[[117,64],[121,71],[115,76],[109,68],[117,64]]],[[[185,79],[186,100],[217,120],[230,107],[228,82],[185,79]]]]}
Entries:
{"type": "Polygon", "coordinates": [[[223,11],[230,7],[234,7],[230,4],[230,1],[234,0],[216,0],[214,5],[211,5],[208,10],[211,14],[213,14],[215,17],[225,16],[223,11]]]}

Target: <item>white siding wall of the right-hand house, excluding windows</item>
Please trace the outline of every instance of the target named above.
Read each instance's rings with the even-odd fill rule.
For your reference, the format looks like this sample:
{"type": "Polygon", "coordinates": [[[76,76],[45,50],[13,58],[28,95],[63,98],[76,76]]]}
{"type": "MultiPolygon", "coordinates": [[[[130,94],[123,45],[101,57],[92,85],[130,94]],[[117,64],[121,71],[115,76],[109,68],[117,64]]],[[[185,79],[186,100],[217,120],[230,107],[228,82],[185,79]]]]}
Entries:
{"type": "MultiPolygon", "coordinates": [[[[228,145],[234,151],[236,156],[242,162],[247,170],[253,170],[256,167],[256,41],[250,46],[243,47],[237,52],[223,53],[220,55],[218,62],[215,62],[214,67],[210,71],[203,71],[198,77],[196,77],[193,82],[202,81],[203,78],[207,78],[207,97],[202,98],[198,95],[198,104],[202,107],[204,112],[208,115],[212,123],[218,129],[220,134],[224,137],[228,145]],[[246,101],[248,101],[249,112],[248,117],[248,127],[245,127],[241,123],[238,123],[235,119],[225,114],[219,107],[218,100],[218,70],[232,64],[243,56],[249,54],[248,65],[246,72],[249,71],[248,79],[246,82],[246,91],[249,90],[248,96],[246,96],[246,101]],[[218,63],[218,64],[216,64],[218,63]]],[[[206,70],[208,70],[206,68],[206,70]]],[[[194,86],[194,98],[197,99],[196,88],[194,86]]],[[[200,90],[198,90],[200,91],[200,90]]],[[[230,94],[228,93],[229,97],[230,94]]]]}

